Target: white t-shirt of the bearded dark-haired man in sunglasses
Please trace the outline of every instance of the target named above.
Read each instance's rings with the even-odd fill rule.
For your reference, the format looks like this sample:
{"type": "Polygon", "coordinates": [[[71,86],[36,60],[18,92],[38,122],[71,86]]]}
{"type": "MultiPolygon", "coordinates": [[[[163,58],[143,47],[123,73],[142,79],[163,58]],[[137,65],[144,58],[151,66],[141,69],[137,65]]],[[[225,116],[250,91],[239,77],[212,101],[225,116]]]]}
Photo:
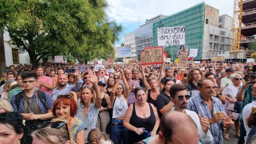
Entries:
{"type": "MultiPolygon", "coordinates": [[[[173,112],[173,111],[175,111],[174,107],[171,109],[171,112],[173,112]]],[[[200,142],[204,143],[204,144],[205,143],[206,144],[213,143],[213,135],[211,135],[210,131],[208,130],[207,133],[204,133],[204,131],[202,130],[198,114],[196,114],[194,111],[190,111],[190,110],[185,110],[185,114],[189,115],[191,117],[191,119],[193,119],[193,121],[195,122],[196,127],[198,128],[200,142]]]]}

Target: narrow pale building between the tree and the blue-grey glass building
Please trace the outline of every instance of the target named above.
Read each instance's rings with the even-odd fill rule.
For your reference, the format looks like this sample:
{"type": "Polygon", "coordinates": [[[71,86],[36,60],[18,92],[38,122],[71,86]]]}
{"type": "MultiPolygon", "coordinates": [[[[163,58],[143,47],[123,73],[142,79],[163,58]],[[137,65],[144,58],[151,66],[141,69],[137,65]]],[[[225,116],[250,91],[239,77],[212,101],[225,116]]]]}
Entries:
{"type": "Polygon", "coordinates": [[[124,47],[131,47],[131,57],[127,57],[129,59],[136,59],[136,45],[135,45],[135,32],[125,34],[124,38],[124,47]]]}

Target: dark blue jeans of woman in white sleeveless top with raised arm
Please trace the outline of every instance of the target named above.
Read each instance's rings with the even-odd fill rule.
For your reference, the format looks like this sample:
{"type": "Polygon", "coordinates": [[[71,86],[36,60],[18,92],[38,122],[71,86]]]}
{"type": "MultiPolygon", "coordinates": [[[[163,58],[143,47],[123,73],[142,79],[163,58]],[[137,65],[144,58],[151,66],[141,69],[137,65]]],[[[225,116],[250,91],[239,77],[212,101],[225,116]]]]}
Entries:
{"type": "MultiPolygon", "coordinates": [[[[112,119],[112,122],[122,123],[122,120],[112,119]]],[[[115,144],[128,144],[128,130],[123,125],[111,125],[111,141],[115,144]]]]}

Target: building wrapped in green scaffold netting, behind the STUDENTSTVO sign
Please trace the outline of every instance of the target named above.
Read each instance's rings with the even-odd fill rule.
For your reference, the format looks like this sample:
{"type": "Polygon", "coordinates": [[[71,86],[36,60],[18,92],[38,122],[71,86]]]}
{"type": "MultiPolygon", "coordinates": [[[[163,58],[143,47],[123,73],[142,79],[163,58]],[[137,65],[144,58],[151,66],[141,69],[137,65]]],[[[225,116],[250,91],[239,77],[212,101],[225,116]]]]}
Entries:
{"type": "MultiPolygon", "coordinates": [[[[166,18],[156,20],[152,28],[153,46],[157,46],[157,28],[185,25],[185,45],[189,49],[198,49],[198,56],[195,60],[210,59],[211,52],[221,54],[231,49],[231,30],[225,28],[226,23],[221,23],[223,28],[222,25],[219,28],[219,18],[218,9],[202,2],[166,18]]],[[[180,45],[164,46],[164,50],[168,51],[170,58],[171,49],[173,49],[172,56],[176,58],[179,47],[180,45]]]]}

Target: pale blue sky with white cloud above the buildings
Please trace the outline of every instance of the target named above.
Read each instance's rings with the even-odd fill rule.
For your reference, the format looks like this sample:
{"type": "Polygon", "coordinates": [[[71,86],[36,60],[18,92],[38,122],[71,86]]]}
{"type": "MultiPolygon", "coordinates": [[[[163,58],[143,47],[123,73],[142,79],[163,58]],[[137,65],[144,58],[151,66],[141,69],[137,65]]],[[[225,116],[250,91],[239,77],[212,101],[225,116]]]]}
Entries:
{"type": "MultiPolygon", "coordinates": [[[[120,35],[120,42],[124,41],[124,35],[133,32],[139,25],[145,23],[146,19],[150,19],[159,14],[170,16],[183,9],[192,7],[200,2],[200,0],[107,0],[109,8],[107,15],[110,19],[115,19],[117,23],[122,24],[124,32],[120,35]]],[[[219,15],[228,14],[233,17],[234,0],[205,0],[206,4],[219,9],[219,15]]]]}

